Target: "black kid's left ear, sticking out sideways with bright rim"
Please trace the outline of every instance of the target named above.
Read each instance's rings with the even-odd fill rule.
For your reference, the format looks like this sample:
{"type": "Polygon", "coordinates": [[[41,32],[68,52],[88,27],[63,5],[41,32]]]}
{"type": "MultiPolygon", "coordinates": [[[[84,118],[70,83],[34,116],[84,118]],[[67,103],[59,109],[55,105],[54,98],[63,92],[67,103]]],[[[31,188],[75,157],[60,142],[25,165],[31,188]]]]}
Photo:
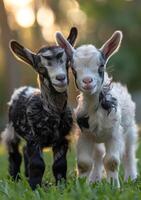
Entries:
{"type": "Polygon", "coordinates": [[[15,40],[10,41],[9,43],[10,50],[12,53],[22,60],[23,62],[34,66],[36,54],[31,52],[29,49],[24,48],[21,44],[15,40]]]}

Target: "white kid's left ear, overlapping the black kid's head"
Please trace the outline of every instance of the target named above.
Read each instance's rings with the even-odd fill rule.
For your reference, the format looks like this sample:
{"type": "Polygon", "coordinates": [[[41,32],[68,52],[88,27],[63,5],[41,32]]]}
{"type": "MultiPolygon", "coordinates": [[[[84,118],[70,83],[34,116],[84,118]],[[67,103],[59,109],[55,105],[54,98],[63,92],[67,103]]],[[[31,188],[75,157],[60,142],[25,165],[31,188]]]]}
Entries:
{"type": "Polygon", "coordinates": [[[56,32],[56,41],[57,43],[65,49],[66,54],[68,55],[69,58],[72,58],[73,55],[73,47],[71,44],[64,38],[62,33],[56,32]]]}

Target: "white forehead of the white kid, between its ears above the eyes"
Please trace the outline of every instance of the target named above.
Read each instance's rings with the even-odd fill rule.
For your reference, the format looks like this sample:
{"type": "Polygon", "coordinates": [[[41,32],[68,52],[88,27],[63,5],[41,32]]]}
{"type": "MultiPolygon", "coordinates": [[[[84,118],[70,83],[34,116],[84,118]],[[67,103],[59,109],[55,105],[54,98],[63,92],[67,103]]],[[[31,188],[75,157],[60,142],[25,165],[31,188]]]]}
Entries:
{"type": "Polygon", "coordinates": [[[101,52],[93,45],[82,45],[76,49],[73,60],[76,65],[99,65],[101,61],[101,52]]]}

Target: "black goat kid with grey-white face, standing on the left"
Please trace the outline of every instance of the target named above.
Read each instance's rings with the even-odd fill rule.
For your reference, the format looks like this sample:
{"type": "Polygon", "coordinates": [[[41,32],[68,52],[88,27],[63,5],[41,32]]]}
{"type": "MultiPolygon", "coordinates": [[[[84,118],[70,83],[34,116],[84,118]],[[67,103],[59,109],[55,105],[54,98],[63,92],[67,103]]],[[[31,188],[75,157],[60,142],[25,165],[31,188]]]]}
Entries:
{"type": "MultiPolygon", "coordinates": [[[[72,28],[68,41],[73,45],[77,30],[72,28]]],[[[24,147],[25,175],[32,189],[41,185],[45,164],[44,147],[52,147],[52,166],[56,183],[66,179],[68,150],[67,135],[73,125],[67,104],[68,58],[59,46],[43,47],[33,53],[16,41],[10,42],[11,51],[38,73],[39,89],[21,87],[14,91],[9,104],[9,122],[2,133],[9,153],[9,173],[19,178],[21,154],[20,137],[24,147]]]]}

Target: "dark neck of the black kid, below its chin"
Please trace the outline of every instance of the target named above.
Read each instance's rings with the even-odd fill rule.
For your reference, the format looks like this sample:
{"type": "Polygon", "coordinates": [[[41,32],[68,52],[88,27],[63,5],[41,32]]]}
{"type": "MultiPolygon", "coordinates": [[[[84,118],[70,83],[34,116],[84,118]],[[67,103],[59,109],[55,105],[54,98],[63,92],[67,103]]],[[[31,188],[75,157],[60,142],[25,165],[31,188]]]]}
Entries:
{"type": "Polygon", "coordinates": [[[46,84],[42,77],[39,77],[39,82],[43,107],[46,110],[51,108],[57,112],[63,112],[67,104],[67,92],[55,91],[51,83],[46,84]]]}

